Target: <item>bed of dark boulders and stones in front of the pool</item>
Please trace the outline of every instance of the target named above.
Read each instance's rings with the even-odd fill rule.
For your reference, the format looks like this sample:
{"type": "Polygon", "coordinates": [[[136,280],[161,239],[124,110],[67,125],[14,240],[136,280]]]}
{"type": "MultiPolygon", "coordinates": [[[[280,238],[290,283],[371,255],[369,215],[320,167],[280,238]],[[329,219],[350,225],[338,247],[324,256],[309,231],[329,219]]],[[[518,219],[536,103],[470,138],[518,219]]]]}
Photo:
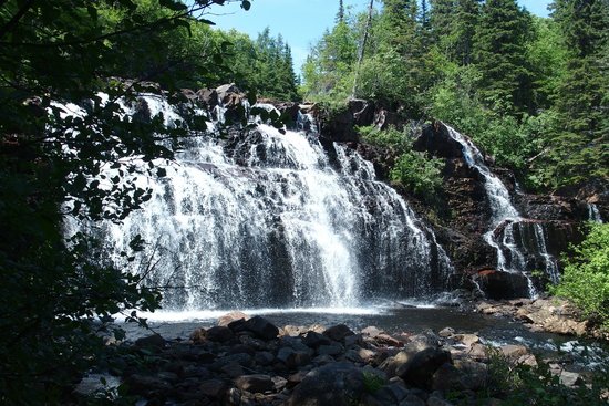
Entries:
{"type": "MultiPolygon", "coordinates": [[[[504,303],[506,314],[509,305],[516,308],[504,303]]],[[[146,362],[125,365],[121,379],[142,405],[447,406],[455,393],[462,402],[500,405],[486,395],[497,379],[493,363],[538,361],[527,346],[483,342],[452,327],[392,334],[344,324],[278,327],[229,313],[189,340],[136,340],[133,350],[146,362]]],[[[565,386],[585,383],[557,358],[545,361],[565,386]]]]}

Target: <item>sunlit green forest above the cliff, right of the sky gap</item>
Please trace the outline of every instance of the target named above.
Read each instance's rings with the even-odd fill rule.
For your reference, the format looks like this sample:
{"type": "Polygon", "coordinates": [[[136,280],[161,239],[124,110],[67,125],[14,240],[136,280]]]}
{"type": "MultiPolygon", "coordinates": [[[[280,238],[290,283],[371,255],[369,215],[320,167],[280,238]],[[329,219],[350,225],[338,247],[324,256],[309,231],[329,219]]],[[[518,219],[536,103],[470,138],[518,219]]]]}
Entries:
{"type": "Polygon", "coordinates": [[[609,2],[384,0],[337,22],[303,66],[307,100],[384,102],[474,139],[530,190],[607,180],[609,2]]]}

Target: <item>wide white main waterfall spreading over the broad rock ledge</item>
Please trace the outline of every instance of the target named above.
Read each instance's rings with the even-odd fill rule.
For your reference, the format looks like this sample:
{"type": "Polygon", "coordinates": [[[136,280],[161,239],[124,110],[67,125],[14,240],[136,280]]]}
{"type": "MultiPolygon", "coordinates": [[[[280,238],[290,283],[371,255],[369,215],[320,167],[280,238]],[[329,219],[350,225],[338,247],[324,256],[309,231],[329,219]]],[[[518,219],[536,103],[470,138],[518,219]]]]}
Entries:
{"type": "MultiPolygon", "coordinates": [[[[166,125],[179,118],[142,98],[166,125]]],[[[140,178],[153,197],[121,225],[69,230],[97,233],[114,259],[141,236],[165,310],[348,308],[446,289],[453,268],[433,231],[358,153],[259,119],[229,133],[193,134],[159,164],[166,177],[140,178]]]]}

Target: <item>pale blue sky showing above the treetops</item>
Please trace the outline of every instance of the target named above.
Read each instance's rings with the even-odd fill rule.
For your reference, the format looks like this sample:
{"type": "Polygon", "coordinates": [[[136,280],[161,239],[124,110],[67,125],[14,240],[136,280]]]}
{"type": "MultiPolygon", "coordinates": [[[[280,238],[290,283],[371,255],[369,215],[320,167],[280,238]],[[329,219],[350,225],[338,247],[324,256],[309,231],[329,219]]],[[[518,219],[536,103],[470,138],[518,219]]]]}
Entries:
{"type": "MultiPolygon", "coordinates": [[[[331,28],[338,11],[338,0],[250,0],[245,11],[239,2],[211,7],[205,18],[223,30],[236,29],[255,40],[266,27],[273,37],[281,34],[292,50],[295,71],[298,73],[309,49],[331,28]]],[[[528,11],[547,17],[550,0],[518,0],[528,11]]],[[[344,7],[354,12],[364,11],[369,0],[344,0],[344,7]]]]}

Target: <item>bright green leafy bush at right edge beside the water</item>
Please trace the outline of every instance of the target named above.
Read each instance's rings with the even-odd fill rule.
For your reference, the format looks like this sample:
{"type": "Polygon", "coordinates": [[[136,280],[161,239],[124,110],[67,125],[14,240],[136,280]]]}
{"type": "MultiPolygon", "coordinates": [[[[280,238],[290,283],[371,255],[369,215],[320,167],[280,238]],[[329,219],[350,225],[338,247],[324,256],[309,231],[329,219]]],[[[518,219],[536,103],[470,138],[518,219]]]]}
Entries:
{"type": "Polygon", "coordinates": [[[584,242],[564,261],[562,278],[553,293],[571,300],[586,317],[609,330],[609,225],[590,223],[584,242]]]}

